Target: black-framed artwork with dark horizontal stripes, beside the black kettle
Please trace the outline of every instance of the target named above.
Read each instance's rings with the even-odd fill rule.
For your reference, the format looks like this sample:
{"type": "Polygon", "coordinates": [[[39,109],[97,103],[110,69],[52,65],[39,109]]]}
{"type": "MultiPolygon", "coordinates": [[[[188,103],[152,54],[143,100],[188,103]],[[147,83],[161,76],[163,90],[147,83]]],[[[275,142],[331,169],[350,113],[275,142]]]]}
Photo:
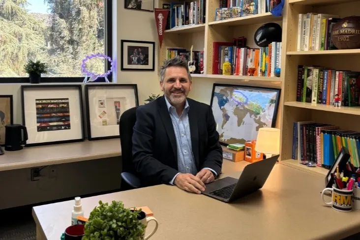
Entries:
{"type": "Polygon", "coordinates": [[[81,85],[21,86],[25,146],[84,141],[81,85]]]}

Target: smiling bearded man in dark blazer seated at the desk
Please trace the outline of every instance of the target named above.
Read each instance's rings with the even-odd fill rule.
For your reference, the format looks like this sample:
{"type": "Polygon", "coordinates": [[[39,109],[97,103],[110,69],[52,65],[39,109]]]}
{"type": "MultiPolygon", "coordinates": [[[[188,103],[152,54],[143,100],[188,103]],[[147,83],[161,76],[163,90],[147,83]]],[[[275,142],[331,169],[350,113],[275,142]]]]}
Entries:
{"type": "Polygon", "coordinates": [[[132,136],[133,163],[145,186],[169,183],[201,193],[222,166],[219,134],[209,105],[187,98],[192,88],[180,57],[160,68],[164,95],[138,107],[132,136]]]}

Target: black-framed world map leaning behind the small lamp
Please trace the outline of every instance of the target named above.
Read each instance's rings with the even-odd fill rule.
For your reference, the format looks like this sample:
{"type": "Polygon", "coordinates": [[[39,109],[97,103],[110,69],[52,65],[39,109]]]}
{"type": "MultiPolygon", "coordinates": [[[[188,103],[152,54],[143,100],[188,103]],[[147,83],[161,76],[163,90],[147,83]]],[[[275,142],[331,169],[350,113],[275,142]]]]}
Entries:
{"type": "Polygon", "coordinates": [[[274,127],[280,89],[214,84],[210,106],[223,146],[256,140],[259,128],[274,127]]]}

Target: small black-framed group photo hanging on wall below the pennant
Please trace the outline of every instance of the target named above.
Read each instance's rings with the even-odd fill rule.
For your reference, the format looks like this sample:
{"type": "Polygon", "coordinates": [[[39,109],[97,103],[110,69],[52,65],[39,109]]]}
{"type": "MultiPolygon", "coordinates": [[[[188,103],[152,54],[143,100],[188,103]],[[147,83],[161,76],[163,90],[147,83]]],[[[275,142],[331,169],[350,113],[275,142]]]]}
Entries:
{"type": "Polygon", "coordinates": [[[121,54],[121,70],[155,69],[155,42],[121,40],[121,54]]]}

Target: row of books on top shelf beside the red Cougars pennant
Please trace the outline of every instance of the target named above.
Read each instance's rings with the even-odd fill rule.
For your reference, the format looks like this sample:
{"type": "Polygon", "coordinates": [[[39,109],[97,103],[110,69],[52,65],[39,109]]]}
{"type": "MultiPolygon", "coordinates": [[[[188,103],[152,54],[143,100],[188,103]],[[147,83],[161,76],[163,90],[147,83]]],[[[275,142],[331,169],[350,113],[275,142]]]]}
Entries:
{"type": "Polygon", "coordinates": [[[206,1],[184,1],[163,3],[162,8],[169,9],[166,30],[205,23],[206,1]]]}

